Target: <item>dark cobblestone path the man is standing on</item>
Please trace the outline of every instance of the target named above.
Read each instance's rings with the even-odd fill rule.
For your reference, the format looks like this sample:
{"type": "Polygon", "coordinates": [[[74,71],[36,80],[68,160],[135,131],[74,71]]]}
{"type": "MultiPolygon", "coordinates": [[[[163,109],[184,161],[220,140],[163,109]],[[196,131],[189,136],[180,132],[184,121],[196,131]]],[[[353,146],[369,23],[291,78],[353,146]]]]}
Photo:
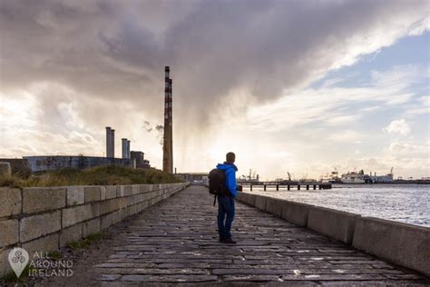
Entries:
{"type": "Polygon", "coordinates": [[[428,279],[268,213],[236,203],[233,238],[218,242],[217,207],[191,186],[152,206],[120,231],[126,241],[96,265],[103,285],[241,282],[256,284],[428,284],[428,279]]]}

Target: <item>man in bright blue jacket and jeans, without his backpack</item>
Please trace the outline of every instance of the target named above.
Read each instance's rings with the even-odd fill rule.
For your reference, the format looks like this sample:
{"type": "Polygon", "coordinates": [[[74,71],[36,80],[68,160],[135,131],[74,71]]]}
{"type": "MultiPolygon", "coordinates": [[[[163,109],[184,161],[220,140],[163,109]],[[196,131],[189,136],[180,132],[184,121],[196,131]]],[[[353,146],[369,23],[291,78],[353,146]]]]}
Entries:
{"type": "Polygon", "coordinates": [[[227,194],[218,196],[218,233],[220,242],[226,244],[236,244],[231,239],[231,223],[234,219],[234,198],[236,197],[236,172],[238,168],[234,164],[236,155],[226,154],[226,161],[219,163],[217,169],[224,171],[226,177],[227,194]]]}

